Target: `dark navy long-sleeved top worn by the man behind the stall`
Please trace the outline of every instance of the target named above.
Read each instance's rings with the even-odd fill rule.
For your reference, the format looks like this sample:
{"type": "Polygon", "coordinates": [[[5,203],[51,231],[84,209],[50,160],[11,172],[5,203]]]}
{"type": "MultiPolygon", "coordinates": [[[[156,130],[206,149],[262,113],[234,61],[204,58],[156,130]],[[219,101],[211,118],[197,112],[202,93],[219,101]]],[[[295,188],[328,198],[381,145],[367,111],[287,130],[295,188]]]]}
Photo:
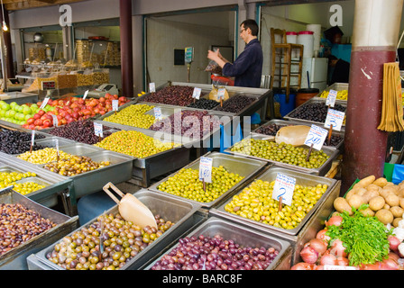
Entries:
{"type": "Polygon", "coordinates": [[[225,76],[234,76],[234,86],[255,87],[261,85],[262,47],[257,39],[251,40],[234,63],[223,67],[225,76]]]}

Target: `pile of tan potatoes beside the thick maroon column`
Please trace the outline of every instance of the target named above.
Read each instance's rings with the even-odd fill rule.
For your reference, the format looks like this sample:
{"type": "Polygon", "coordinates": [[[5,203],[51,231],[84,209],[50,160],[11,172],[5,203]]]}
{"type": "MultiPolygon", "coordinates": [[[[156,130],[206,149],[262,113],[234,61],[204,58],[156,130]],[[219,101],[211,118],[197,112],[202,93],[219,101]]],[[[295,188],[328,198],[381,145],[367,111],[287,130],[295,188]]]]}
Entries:
{"type": "Polygon", "coordinates": [[[397,227],[404,213],[404,181],[393,184],[383,177],[367,176],[354,184],[345,197],[337,197],[334,208],[352,215],[352,207],[358,209],[362,204],[369,204],[363,215],[376,216],[383,224],[397,227]]]}

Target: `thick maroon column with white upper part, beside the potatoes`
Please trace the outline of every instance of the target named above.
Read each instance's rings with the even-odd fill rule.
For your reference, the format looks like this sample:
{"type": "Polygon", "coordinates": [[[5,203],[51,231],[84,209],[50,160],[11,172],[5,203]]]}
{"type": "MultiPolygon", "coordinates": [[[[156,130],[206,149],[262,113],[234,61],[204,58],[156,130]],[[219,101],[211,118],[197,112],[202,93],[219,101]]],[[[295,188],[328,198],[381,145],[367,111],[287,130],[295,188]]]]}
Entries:
{"type": "Polygon", "coordinates": [[[356,0],[342,190],[356,178],[383,176],[388,132],[381,121],[383,64],[394,62],[403,0],[356,0]]]}

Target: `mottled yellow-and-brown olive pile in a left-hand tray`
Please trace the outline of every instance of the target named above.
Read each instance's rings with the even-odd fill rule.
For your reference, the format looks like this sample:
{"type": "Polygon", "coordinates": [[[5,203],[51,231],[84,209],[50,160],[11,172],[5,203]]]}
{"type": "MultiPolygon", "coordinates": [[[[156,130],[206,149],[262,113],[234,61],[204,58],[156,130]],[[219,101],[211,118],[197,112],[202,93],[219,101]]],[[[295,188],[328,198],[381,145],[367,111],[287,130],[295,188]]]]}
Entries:
{"type": "Polygon", "coordinates": [[[60,159],[56,162],[50,162],[43,167],[60,175],[74,176],[109,165],[109,161],[95,162],[87,156],[73,156],[69,159],[60,159]]]}

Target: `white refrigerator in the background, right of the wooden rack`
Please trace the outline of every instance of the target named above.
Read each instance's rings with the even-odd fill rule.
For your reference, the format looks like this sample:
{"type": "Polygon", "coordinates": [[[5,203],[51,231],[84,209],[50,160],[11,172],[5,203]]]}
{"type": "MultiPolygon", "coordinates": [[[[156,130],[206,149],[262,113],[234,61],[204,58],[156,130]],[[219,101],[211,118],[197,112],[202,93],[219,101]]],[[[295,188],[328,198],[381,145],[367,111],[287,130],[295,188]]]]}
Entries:
{"type": "Polygon", "coordinates": [[[326,89],[328,58],[303,58],[301,74],[301,88],[318,88],[320,92],[323,91],[326,89]]]}

